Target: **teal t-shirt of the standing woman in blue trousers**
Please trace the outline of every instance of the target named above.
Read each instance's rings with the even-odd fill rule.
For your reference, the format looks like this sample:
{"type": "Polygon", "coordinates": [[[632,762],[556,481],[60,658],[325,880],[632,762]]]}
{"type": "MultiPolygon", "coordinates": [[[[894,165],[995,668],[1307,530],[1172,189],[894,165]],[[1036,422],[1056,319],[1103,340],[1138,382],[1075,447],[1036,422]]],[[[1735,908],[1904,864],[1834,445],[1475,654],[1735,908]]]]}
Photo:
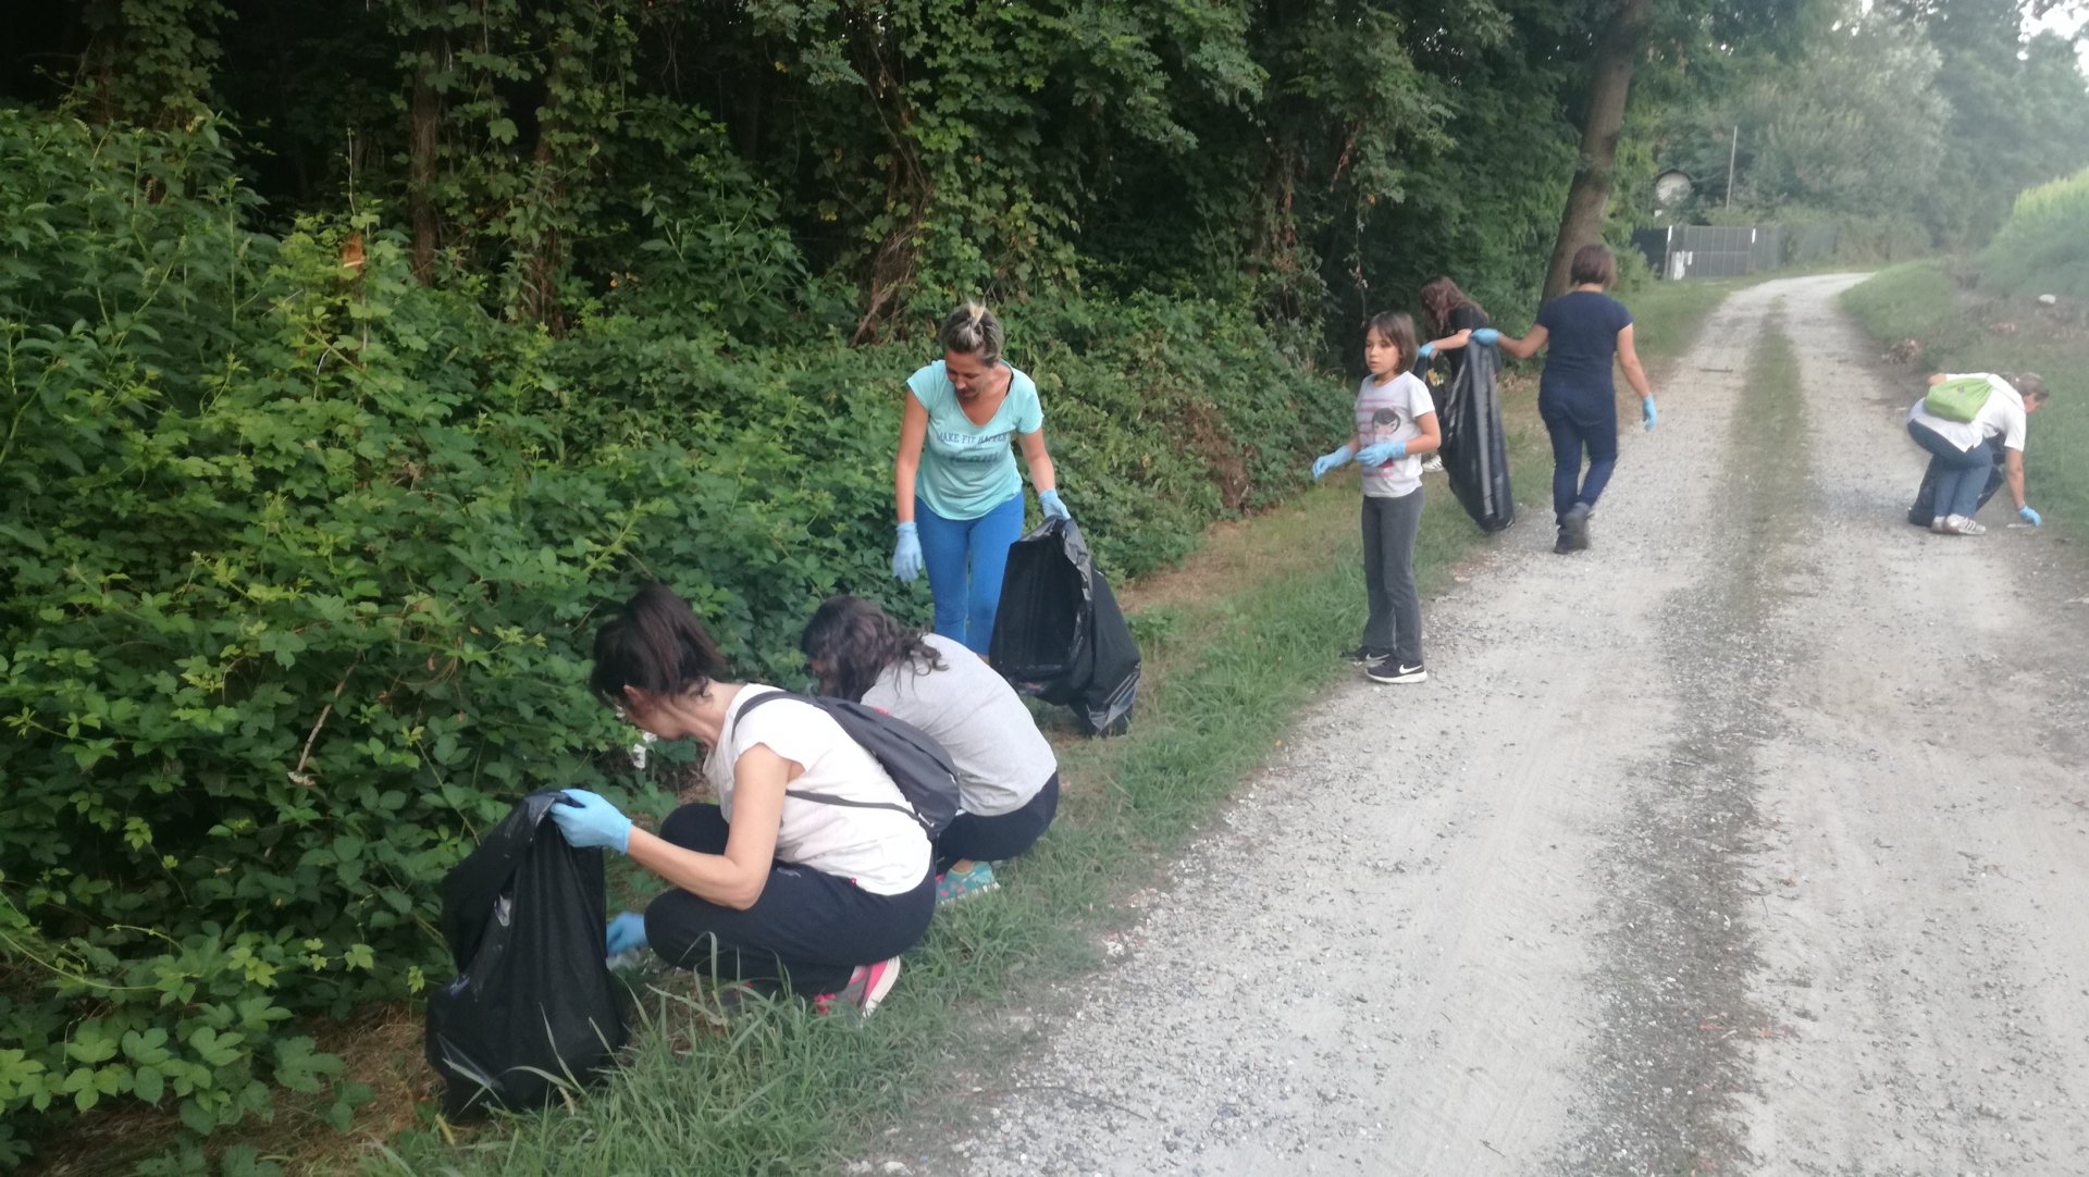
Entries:
{"type": "Polygon", "coordinates": [[[978,520],[1024,488],[1009,434],[1044,428],[1044,407],[1036,382],[1009,371],[1009,394],[984,426],[965,415],[940,359],[907,378],[907,390],[928,409],[915,497],[946,520],[978,520]]]}

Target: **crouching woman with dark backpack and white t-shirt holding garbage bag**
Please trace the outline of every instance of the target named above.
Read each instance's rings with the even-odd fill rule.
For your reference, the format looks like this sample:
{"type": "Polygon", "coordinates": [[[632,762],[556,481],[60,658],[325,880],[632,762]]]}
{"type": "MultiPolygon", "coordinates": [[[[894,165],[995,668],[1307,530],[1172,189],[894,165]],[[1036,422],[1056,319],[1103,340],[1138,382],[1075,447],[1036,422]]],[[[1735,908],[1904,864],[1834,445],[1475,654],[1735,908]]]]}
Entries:
{"type": "Polygon", "coordinates": [[[566,789],[551,818],[572,845],[629,854],[675,885],[643,916],[610,922],[612,956],[650,943],[719,981],[788,983],[821,1010],[869,1014],[936,912],[928,835],[834,718],[802,701],[748,710],[777,689],[725,672],[681,597],[639,588],[595,634],[589,684],[641,730],[702,743],[719,803],[683,806],[652,835],[604,797],[566,789]]]}

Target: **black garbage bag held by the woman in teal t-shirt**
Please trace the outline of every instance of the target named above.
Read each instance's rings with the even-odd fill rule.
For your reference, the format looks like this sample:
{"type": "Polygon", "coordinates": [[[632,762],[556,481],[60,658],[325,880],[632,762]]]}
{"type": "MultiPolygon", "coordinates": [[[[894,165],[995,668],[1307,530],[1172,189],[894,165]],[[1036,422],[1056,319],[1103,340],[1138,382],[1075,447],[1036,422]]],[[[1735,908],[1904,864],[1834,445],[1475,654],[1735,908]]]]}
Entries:
{"type": "Polygon", "coordinates": [[[1139,643],[1072,520],[1044,520],[1009,547],[988,662],[1017,693],[1074,707],[1086,735],[1130,724],[1139,643]]]}

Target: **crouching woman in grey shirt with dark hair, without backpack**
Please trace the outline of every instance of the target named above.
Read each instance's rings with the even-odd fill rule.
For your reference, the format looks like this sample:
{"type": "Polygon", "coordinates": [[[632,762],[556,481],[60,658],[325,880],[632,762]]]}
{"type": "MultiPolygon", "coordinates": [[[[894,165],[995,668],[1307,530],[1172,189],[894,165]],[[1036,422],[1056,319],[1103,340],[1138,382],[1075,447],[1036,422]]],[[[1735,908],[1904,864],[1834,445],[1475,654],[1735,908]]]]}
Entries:
{"type": "Polygon", "coordinates": [[[994,889],[994,862],[1030,849],[1059,812],[1059,760],[1015,691],[965,643],[829,597],[798,643],[823,695],[869,703],[936,739],[963,812],[936,837],[936,902],[994,889]]]}

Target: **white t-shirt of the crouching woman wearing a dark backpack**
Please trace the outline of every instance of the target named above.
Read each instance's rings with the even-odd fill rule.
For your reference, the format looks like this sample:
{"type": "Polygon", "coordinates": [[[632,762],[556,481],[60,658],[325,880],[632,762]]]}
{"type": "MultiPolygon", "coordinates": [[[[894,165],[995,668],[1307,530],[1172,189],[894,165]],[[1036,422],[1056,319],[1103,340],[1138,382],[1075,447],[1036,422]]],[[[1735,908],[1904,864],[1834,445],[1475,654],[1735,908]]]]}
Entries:
{"type": "MultiPolygon", "coordinates": [[[[719,745],[704,758],[704,778],[719,791],[725,820],[733,820],[733,766],[754,745],[767,745],[783,760],[804,766],[804,774],[790,783],[792,793],[907,810],[907,797],[877,758],[819,707],[798,701],[762,703],[740,722],[748,699],[771,691],[775,687],[756,682],[742,687],[725,707],[719,745]]],[[[785,795],[775,856],[850,879],[873,895],[905,895],[928,874],[930,845],[913,812],[900,810],[829,806],[785,795]]]]}

